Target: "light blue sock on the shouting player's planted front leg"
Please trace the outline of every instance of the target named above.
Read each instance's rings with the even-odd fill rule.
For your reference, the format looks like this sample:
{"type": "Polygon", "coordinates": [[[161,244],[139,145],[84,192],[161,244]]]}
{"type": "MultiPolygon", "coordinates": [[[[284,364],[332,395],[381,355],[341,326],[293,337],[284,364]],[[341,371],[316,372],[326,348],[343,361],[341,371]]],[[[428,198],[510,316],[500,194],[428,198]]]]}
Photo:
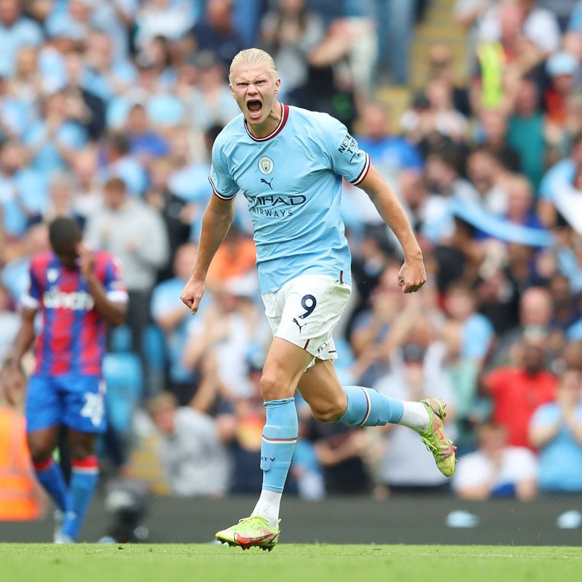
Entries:
{"type": "Polygon", "coordinates": [[[267,423],[262,430],[262,488],[281,493],[297,442],[297,410],[294,398],[265,402],[267,423]]]}

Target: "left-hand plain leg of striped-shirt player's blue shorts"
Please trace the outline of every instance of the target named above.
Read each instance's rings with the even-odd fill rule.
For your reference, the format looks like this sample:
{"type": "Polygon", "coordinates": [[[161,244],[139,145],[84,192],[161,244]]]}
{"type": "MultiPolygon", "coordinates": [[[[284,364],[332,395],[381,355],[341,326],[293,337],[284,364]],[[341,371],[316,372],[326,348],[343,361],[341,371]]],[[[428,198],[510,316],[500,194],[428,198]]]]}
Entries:
{"type": "Polygon", "coordinates": [[[34,375],[26,393],[26,432],[33,433],[61,424],[62,400],[54,377],[34,375]]]}

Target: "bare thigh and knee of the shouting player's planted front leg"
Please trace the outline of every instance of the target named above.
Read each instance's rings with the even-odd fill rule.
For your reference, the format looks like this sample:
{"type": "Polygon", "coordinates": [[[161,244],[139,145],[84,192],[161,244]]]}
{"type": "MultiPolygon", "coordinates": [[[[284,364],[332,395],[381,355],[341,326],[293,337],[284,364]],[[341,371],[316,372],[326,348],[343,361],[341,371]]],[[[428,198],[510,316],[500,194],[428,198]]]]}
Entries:
{"type": "Polygon", "coordinates": [[[262,398],[280,400],[291,398],[297,382],[311,363],[313,356],[286,339],[274,338],[262,368],[262,398]]]}

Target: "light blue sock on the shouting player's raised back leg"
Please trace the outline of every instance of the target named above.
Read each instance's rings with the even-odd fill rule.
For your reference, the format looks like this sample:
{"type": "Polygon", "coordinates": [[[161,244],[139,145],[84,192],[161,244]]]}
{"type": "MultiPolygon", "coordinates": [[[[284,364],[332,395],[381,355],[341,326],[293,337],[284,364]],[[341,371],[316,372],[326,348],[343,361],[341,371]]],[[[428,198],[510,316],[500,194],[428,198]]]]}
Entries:
{"type": "Polygon", "coordinates": [[[378,427],[398,424],[404,414],[402,400],[390,398],[373,388],[342,386],[347,396],[347,409],[338,423],[356,427],[378,427]]]}

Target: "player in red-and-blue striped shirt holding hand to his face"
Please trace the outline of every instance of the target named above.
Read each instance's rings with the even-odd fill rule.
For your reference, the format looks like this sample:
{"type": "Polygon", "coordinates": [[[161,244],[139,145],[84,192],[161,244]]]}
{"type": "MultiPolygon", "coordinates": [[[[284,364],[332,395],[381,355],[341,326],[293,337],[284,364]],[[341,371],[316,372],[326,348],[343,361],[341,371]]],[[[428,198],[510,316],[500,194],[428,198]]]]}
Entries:
{"type": "Polygon", "coordinates": [[[95,437],[105,430],[105,332],[107,324],[123,322],[127,292],[111,255],[93,253],[81,244],[74,219],[55,219],[49,239],[52,251],[31,260],[10,375],[17,377],[34,341],[34,318],[40,310],[36,371],[26,400],[27,439],[38,481],[58,507],[55,542],[70,543],[77,540],[97,485],[95,437]],[[68,488],[52,459],[61,425],[68,428],[72,457],[68,488]]]}

